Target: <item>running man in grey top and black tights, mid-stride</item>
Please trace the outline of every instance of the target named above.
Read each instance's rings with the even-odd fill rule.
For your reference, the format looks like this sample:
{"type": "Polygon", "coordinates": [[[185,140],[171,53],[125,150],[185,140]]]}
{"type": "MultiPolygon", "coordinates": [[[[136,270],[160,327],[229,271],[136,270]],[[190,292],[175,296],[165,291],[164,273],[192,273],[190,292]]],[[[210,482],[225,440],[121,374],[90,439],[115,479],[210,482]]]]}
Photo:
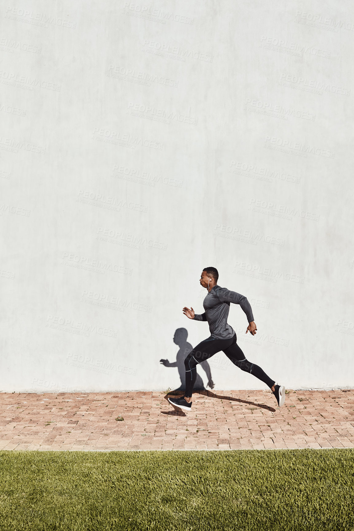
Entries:
{"type": "Polygon", "coordinates": [[[208,321],[210,337],[204,339],[188,354],[184,361],[186,368],[186,392],[182,398],[169,398],[169,402],[174,406],[180,407],[187,411],[192,408],[192,391],[197,376],[196,366],[198,363],[208,359],[217,352],[222,350],[223,353],[234,363],[241,371],[253,374],[259,380],[266,383],[272,390],[277,399],[278,406],[283,406],[285,402],[285,388],[275,384],[265,372],[256,365],[247,361],[244,353],[236,343],[236,332],[227,323],[230,310],[230,302],[239,304],[245,312],[248,320],[246,333],[251,332],[252,336],[256,334],[256,323],[253,320],[252,308],[247,298],[236,292],[231,292],[227,288],[220,287],[217,282],[219,278],[218,270],[214,267],[204,268],[202,271],[200,284],[203,288],[208,289],[208,295],[204,298],[203,306],[205,312],[202,314],[194,313],[193,308],[183,309],[183,313],[188,319],[195,321],[208,321]]]}

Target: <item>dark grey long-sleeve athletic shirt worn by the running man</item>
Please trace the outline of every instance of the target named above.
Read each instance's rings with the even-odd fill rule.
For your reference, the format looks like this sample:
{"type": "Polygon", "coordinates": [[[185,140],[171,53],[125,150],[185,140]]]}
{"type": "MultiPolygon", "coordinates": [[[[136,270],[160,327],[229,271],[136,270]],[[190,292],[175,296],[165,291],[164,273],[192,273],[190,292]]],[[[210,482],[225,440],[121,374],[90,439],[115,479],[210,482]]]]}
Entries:
{"type": "Polygon", "coordinates": [[[194,314],[195,321],[208,321],[210,335],[213,337],[218,339],[231,338],[235,335],[235,330],[227,323],[230,302],[241,306],[249,323],[254,320],[251,304],[244,295],[231,292],[229,289],[215,284],[203,301],[205,312],[194,314]]]}

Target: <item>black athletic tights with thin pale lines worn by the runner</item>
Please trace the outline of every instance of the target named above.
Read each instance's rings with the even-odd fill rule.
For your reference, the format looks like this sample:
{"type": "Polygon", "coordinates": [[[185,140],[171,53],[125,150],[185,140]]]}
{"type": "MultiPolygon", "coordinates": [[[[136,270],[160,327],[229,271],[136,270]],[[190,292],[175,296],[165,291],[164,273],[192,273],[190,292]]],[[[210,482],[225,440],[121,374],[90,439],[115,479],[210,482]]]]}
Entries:
{"type": "Polygon", "coordinates": [[[195,380],[197,377],[196,366],[198,363],[203,362],[205,359],[209,359],[211,356],[220,352],[227,355],[227,357],[234,363],[241,371],[249,372],[256,376],[256,378],[266,383],[268,387],[272,387],[275,384],[274,380],[271,380],[265,372],[256,365],[247,361],[244,353],[236,343],[236,333],[230,339],[217,339],[212,336],[208,339],[204,339],[199,343],[186,357],[184,365],[186,367],[186,392],[185,397],[191,397],[195,380]]]}

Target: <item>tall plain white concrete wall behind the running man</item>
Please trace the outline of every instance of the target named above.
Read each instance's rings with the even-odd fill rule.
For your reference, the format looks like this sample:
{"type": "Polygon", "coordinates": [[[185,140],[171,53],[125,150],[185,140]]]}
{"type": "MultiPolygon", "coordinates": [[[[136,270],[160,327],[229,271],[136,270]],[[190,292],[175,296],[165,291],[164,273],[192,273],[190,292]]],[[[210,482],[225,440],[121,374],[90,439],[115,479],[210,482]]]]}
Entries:
{"type": "Polygon", "coordinates": [[[352,2],[139,1],[1,9],[1,390],[178,387],[209,265],[249,360],[352,387],[352,2]]]}

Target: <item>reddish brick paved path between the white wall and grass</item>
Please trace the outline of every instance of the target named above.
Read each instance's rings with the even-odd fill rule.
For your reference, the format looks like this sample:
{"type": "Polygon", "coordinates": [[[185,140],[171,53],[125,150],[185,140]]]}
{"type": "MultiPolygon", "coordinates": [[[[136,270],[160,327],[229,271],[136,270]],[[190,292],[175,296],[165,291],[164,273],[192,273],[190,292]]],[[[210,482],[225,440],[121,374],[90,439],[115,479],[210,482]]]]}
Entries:
{"type": "Polygon", "coordinates": [[[354,389],[201,391],[191,412],[161,392],[0,393],[0,450],[353,448],[354,389]],[[123,416],[123,421],[116,418],[123,416]]]}

